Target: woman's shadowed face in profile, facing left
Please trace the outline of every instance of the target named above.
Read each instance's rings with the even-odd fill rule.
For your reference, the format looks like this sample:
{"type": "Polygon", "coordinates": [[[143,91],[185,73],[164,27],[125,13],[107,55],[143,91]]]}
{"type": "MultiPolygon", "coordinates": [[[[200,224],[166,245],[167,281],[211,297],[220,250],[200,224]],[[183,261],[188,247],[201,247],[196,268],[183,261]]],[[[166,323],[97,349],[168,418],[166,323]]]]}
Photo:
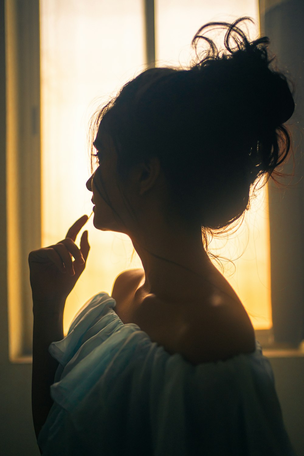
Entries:
{"type": "Polygon", "coordinates": [[[98,168],[86,183],[88,190],[93,192],[93,225],[100,230],[125,233],[128,212],[122,198],[124,188],[120,190],[118,187],[117,153],[113,140],[99,127],[93,144],[98,153],[98,168]]]}

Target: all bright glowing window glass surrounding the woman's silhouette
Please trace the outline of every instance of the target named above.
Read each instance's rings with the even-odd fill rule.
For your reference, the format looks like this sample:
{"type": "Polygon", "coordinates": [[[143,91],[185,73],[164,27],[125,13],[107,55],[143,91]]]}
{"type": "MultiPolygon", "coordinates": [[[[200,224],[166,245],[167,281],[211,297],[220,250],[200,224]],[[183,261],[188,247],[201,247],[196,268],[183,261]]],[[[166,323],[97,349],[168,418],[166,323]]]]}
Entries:
{"type": "MultiPolygon", "coordinates": [[[[46,246],[64,238],[77,218],[92,211],[91,194],[85,187],[90,176],[88,119],[108,95],[144,68],[144,20],[142,1],[41,0],[40,5],[42,245],[46,246]],[[103,98],[96,99],[99,96],[103,98]]],[[[185,45],[202,24],[233,21],[242,15],[258,21],[258,2],[225,0],[217,1],[215,7],[201,0],[155,1],[157,59],[160,64],[185,64],[190,54],[185,45]]],[[[252,33],[254,38],[257,31],[252,33]]],[[[267,199],[259,204],[258,212],[252,209],[247,214],[249,245],[235,261],[237,273],[229,280],[248,312],[258,314],[258,319],[252,317],[254,326],[268,328],[267,199]]],[[[85,301],[98,291],[110,293],[113,280],[124,269],[142,266],[137,255],[130,261],[133,246],[126,235],[100,232],[93,227],[92,218],[82,231],[85,229],[91,250],[87,267],[67,299],[65,333],[85,301]]],[[[228,258],[235,257],[231,242],[227,252],[221,251],[228,258]]],[[[244,238],[238,242],[243,245],[244,238]]]]}

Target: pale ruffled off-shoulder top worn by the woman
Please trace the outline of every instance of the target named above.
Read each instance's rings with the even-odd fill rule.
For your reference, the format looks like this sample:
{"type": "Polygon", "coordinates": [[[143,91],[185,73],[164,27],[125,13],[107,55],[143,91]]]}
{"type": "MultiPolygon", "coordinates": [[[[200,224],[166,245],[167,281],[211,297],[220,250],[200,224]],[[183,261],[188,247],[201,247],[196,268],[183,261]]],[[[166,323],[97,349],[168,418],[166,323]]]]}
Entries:
{"type": "Polygon", "coordinates": [[[258,341],[194,366],[124,324],[115,304],[98,293],[49,347],[59,367],[43,455],[295,455],[258,341]]]}

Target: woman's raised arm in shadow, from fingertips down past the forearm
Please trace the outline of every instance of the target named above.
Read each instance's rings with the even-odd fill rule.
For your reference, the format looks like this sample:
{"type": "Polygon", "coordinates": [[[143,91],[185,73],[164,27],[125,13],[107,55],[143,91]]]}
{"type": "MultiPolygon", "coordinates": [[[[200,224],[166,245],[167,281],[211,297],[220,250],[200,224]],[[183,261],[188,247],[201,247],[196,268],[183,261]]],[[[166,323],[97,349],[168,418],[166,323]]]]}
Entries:
{"type": "Polygon", "coordinates": [[[88,231],[82,233],[80,249],[75,244],[87,221],[88,216],[83,215],[62,241],[29,254],[34,314],[32,414],[36,437],[52,407],[50,386],[58,367],[48,348],[52,342],[63,339],[65,302],[85,268],[90,250],[88,231]]]}

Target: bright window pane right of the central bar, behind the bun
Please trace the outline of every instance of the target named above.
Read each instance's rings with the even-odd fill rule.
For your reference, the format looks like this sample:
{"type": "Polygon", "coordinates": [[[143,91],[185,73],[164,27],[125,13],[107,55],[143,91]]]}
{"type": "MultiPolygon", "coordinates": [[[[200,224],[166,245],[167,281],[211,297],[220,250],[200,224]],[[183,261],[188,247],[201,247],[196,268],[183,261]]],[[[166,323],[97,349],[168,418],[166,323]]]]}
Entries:
{"type": "MultiPolygon", "coordinates": [[[[195,53],[191,40],[196,31],[210,21],[233,22],[241,16],[255,21],[247,31],[251,39],[259,34],[256,0],[155,0],[155,53],[158,66],[186,66],[195,53]]],[[[244,29],[246,30],[246,29],[244,29]]],[[[208,35],[222,47],[224,34],[208,35]]],[[[225,276],[241,298],[255,329],[272,327],[270,290],[270,241],[266,187],[252,202],[245,221],[229,241],[214,239],[214,253],[236,259],[233,265],[222,262],[225,276]]]]}

